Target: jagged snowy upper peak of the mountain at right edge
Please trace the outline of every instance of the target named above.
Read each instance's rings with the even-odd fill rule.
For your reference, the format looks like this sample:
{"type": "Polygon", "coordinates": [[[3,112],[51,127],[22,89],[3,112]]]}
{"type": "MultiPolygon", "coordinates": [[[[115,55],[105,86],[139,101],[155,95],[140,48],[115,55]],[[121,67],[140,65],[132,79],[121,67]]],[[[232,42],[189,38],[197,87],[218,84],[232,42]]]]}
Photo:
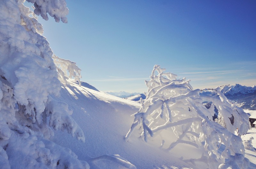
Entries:
{"type": "Polygon", "coordinates": [[[221,92],[228,96],[245,95],[256,91],[256,86],[247,87],[240,84],[225,86],[221,92]]]}

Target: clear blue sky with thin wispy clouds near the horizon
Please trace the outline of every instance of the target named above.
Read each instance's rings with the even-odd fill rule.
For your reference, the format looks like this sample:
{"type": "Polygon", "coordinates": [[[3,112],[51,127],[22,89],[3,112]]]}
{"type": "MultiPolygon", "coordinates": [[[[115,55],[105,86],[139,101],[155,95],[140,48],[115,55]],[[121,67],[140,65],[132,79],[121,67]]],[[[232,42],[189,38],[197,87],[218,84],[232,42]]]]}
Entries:
{"type": "Polygon", "coordinates": [[[256,85],[256,1],[66,0],[44,21],[53,52],[101,91],[147,91],[155,64],[196,88],[256,85]]]}

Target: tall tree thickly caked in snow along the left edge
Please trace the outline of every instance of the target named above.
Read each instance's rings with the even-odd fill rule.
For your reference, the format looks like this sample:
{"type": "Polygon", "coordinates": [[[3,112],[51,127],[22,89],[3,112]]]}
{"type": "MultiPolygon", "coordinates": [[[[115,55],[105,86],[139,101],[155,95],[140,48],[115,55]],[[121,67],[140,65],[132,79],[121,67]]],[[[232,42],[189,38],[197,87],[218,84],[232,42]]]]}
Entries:
{"type": "MultiPolygon", "coordinates": [[[[52,97],[59,95],[61,83],[53,52],[36,17],[47,20],[49,14],[57,22],[67,23],[66,2],[27,1],[34,4],[34,12],[23,5],[24,0],[0,1],[0,166],[86,168],[87,163],[69,149],[48,140],[52,129],[66,130],[85,140],[84,132],[70,116],[72,110],[52,97]]],[[[74,63],[70,64],[74,71],[74,63]]],[[[80,77],[80,72],[72,73],[80,77]]]]}

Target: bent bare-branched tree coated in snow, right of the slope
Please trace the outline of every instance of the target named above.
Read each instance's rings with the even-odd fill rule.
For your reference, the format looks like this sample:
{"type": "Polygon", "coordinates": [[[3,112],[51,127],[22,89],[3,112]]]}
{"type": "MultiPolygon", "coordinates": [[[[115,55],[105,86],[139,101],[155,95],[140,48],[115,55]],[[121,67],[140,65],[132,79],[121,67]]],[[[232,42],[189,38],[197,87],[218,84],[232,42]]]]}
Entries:
{"type": "Polygon", "coordinates": [[[146,99],[140,100],[141,108],[134,115],[125,139],[128,141],[138,129],[146,142],[150,135],[168,151],[178,144],[193,146],[201,152],[201,158],[184,160],[192,164],[199,161],[209,168],[246,168],[248,160],[244,158],[244,145],[239,136],[247,132],[249,118],[243,109],[229,102],[219,87],[193,90],[185,78],[177,80],[177,75],[164,71],[155,65],[150,81],[145,81],[146,99]],[[217,96],[200,95],[204,91],[215,92],[217,96]],[[217,107],[226,128],[213,121],[215,106],[207,109],[203,102],[212,102],[217,107]],[[230,118],[234,118],[233,123],[230,118]],[[140,127],[136,127],[138,125],[140,127]],[[171,137],[173,135],[176,137],[171,137]],[[222,152],[218,151],[220,143],[225,145],[222,152]]]}

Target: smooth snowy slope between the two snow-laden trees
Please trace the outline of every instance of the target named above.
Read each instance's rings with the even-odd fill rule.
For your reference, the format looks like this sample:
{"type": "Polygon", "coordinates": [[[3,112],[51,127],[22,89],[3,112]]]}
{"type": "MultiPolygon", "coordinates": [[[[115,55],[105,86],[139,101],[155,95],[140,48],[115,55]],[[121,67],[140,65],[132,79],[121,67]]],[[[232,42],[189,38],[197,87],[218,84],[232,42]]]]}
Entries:
{"type": "Polygon", "coordinates": [[[134,118],[131,115],[139,110],[139,103],[79,87],[73,82],[63,86],[60,93],[61,97],[55,99],[65,101],[73,109],[72,117],[84,131],[85,143],[61,131],[55,131],[51,140],[70,148],[78,159],[87,161],[91,168],[115,167],[113,160],[91,162],[91,158],[105,154],[118,154],[137,168],[190,168],[179,158],[141,139],[124,141],[134,118]]]}

